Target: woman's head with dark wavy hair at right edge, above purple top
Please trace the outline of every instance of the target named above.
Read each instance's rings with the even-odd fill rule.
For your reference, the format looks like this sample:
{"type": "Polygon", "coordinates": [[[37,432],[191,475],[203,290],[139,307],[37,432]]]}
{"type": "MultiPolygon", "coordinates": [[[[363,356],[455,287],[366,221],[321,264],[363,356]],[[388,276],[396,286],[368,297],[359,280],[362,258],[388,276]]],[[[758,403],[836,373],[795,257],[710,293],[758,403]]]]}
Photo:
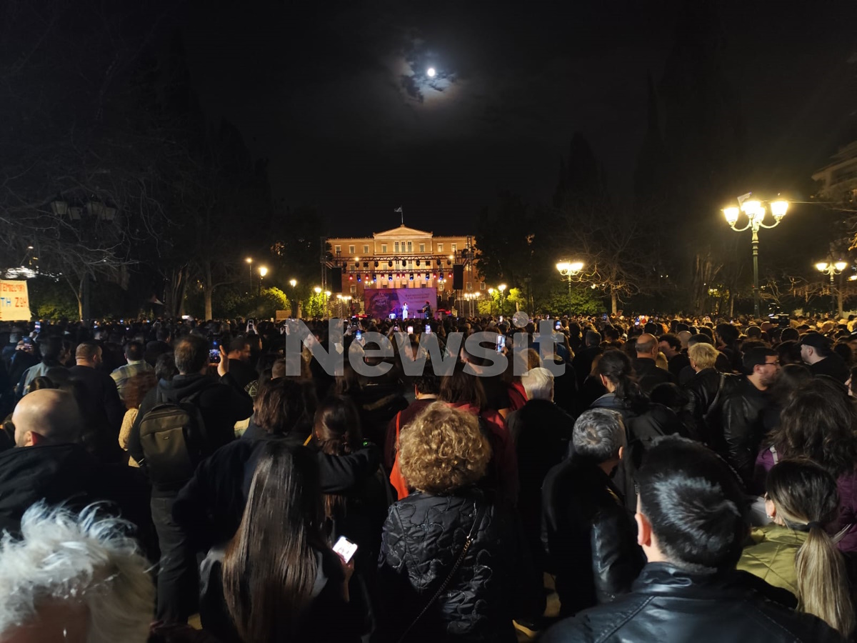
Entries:
{"type": "Polygon", "coordinates": [[[810,458],[838,478],[854,471],[857,423],[847,395],[821,379],[806,382],[792,395],[771,442],[783,458],[810,458]]]}

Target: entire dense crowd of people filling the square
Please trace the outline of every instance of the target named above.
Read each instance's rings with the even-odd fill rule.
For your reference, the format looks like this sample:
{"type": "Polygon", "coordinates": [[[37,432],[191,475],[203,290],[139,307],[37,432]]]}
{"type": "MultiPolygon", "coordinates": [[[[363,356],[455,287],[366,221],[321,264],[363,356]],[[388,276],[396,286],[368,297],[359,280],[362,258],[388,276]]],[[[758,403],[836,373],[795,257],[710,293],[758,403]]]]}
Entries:
{"type": "Polygon", "coordinates": [[[0,640],[852,640],[854,320],[539,321],[0,325],[0,640]]]}

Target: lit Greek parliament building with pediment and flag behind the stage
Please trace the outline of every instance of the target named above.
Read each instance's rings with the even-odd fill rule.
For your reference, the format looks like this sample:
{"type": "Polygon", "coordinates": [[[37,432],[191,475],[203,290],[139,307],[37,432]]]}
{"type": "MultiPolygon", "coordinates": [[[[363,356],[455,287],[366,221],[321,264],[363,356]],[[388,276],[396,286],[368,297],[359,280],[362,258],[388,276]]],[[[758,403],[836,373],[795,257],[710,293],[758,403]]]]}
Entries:
{"type": "MultiPolygon", "coordinates": [[[[370,313],[371,297],[377,291],[399,291],[398,301],[413,299],[420,307],[428,301],[434,309],[446,310],[464,310],[473,299],[488,297],[486,285],[476,274],[472,236],[435,237],[402,224],[371,237],[335,237],[325,242],[326,288],[332,297],[351,297],[353,310],[370,313]],[[425,290],[408,292],[413,289],[425,290]]],[[[411,312],[416,312],[414,303],[410,305],[411,312]]]]}

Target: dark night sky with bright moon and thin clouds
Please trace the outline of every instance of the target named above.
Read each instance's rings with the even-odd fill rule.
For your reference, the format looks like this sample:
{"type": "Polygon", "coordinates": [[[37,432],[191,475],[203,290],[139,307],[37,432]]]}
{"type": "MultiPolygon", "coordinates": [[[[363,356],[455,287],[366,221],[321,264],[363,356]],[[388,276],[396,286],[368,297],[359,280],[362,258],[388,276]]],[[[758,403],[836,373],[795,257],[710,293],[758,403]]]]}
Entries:
{"type": "MultiPolygon", "coordinates": [[[[757,176],[808,196],[857,138],[857,4],[718,2],[757,176]]],[[[273,194],[332,235],[473,231],[510,189],[548,201],[572,134],[630,199],[677,2],[200,4],[183,29],[206,116],[270,159],[273,194]],[[434,80],[425,75],[437,70],[434,80]]],[[[713,204],[712,216],[719,215],[713,204]]]]}

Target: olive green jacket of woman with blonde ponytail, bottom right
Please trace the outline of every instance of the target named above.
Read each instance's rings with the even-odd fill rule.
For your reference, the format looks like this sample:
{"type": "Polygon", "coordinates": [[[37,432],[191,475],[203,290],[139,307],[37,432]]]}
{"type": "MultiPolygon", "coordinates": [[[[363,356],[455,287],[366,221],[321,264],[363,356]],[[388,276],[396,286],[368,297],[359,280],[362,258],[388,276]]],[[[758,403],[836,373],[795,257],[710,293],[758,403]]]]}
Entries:
{"type": "Polygon", "coordinates": [[[794,571],[794,557],[806,543],[806,532],[795,532],[771,523],[754,529],[751,538],[752,544],[741,553],[738,568],[796,596],[798,576],[794,571]]]}

